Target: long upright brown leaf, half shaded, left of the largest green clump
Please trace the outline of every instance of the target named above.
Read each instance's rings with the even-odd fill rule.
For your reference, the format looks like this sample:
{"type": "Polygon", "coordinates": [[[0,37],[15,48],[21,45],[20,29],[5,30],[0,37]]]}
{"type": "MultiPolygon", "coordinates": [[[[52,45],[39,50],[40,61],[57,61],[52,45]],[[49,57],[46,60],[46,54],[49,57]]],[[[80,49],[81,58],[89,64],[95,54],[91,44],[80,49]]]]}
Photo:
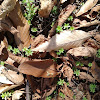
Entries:
{"type": "Polygon", "coordinates": [[[30,35],[29,28],[30,25],[28,21],[25,19],[21,12],[19,2],[16,2],[15,9],[9,13],[9,17],[14,25],[14,27],[19,31],[15,35],[16,43],[19,50],[22,50],[23,47],[29,47],[30,45],[30,35]]]}

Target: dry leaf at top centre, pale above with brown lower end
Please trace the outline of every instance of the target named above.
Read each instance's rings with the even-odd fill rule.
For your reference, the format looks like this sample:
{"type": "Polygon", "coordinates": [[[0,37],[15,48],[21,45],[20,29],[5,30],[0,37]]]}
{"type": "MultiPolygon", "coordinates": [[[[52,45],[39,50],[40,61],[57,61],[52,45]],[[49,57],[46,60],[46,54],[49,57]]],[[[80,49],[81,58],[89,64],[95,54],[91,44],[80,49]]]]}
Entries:
{"type": "Polygon", "coordinates": [[[57,0],[40,0],[41,9],[39,15],[41,17],[48,17],[53,6],[57,3],[57,0]]]}

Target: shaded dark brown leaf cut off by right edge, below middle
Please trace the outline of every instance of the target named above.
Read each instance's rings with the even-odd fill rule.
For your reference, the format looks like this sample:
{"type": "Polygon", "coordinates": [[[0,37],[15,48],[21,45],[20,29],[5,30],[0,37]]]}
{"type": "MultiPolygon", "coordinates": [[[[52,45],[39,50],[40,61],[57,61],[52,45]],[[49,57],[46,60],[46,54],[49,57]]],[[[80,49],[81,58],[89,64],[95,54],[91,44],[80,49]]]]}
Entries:
{"type": "Polygon", "coordinates": [[[96,64],[95,61],[92,62],[91,73],[95,80],[100,82],[100,67],[96,64]]]}

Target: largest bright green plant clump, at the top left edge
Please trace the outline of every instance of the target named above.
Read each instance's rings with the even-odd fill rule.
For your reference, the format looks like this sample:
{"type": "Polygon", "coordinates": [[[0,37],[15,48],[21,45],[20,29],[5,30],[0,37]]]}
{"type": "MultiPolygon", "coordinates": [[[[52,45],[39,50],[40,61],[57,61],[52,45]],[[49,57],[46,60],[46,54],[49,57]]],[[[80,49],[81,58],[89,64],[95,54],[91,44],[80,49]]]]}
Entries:
{"type": "Polygon", "coordinates": [[[24,16],[28,20],[29,24],[31,24],[31,21],[32,21],[34,15],[36,15],[35,12],[38,9],[38,7],[35,7],[33,2],[34,2],[34,0],[22,0],[22,4],[26,9],[26,10],[24,10],[25,11],[24,16]]]}

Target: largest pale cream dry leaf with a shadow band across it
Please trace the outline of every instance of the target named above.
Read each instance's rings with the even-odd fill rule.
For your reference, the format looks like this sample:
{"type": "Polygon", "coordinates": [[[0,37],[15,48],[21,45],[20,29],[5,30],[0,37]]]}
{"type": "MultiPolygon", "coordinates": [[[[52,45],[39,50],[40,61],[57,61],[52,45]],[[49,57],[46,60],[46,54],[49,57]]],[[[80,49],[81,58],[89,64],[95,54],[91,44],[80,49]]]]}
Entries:
{"type": "Polygon", "coordinates": [[[60,34],[56,34],[50,40],[42,43],[38,47],[32,49],[39,52],[50,52],[52,50],[70,49],[81,46],[84,41],[90,38],[91,35],[81,30],[63,31],[60,34]]]}

